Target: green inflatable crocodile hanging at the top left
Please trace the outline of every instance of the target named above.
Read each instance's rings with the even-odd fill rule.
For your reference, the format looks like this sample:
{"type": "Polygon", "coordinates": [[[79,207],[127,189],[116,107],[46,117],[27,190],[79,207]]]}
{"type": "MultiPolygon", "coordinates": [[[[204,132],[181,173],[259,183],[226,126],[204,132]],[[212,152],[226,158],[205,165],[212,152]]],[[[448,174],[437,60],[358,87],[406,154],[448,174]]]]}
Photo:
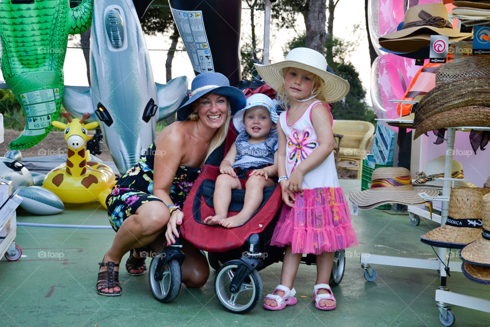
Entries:
{"type": "Polygon", "coordinates": [[[10,149],[27,149],[51,131],[63,95],[68,34],[90,27],[93,0],[75,8],[68,0],[0,1],[2,73],[26,115],[22,134],[10,149]]]}

